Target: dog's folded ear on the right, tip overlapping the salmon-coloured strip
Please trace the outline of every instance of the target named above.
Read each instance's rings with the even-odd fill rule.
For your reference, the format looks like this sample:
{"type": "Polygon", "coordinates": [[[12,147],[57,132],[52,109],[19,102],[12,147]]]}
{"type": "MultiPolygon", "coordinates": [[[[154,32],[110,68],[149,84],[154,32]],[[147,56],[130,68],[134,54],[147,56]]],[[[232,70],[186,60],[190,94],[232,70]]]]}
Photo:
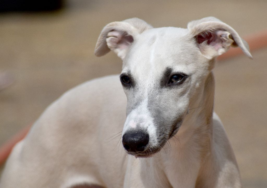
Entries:
{"type": "Polygon", "coordinates": [[[189,22],[190,33],[196,40],[201,53],[208,59],[219,56],[229,50],[230,46],[239,46],[250,59],[249,45],[229,25],[217,18],[207,17],[189,22]]]}

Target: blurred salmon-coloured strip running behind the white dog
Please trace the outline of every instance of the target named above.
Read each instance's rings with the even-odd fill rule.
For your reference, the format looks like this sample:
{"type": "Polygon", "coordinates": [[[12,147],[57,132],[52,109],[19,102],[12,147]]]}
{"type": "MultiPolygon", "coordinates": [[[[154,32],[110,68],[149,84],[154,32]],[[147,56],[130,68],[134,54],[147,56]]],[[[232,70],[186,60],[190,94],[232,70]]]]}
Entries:
{"type": "MultiPolygon", "coordinates": [[[[244,37],[244,39],[248,42],[250,51],[258,50],[260,48],[267,46],[267,30],[261,31],[259,33],[255,33],[253,35],[249,35],[244,37]]],[[[222,54],[218,57],[218,60],[225,60],[228,58],[232,58],[234,56],[238,56],[243,54],[240,48],[231,48],[225,54],[222,54]]],[[[29,132],[31,126],[27,126],[22,129],[20,132],[15,134],[10,140],[8,140],[5,144],[0,147],[0,165],[5,162],[7,157],[9,156],[13,146],[17,144],[17,142],[21,141],[29,132]]]]}

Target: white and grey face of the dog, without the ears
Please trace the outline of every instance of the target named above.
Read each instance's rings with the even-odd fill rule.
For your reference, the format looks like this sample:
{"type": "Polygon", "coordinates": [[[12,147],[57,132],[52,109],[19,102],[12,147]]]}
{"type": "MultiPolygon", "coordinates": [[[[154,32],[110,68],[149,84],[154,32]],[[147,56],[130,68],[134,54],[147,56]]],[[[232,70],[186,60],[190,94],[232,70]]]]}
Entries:
{"type": "Polygon", "coordinates": [[[209,63],[200,63],[198,53],[195,41],[182,28],[151,29],[132,43],[120,75],[128,99],[123,145],[129,154],[155,153],[176,134],[191,93],[209,72],[209,63]],[[147,141],[136,141],[137,133],[148,139],[145,147],[147,141]]]}

